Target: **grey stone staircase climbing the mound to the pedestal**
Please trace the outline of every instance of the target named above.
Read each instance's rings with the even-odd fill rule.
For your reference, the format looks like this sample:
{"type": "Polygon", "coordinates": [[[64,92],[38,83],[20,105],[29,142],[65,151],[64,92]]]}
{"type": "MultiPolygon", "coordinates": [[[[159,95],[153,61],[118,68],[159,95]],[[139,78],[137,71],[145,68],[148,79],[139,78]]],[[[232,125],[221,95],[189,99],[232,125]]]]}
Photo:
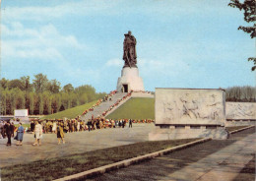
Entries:
{"type": "MultiPolygon", "coordinates": [[[[94,115],[94,117],[101,115],[105,110],[107,110],[111,105],[113,105],[119,98],[122,98],[126,94],[127,93],[125,92],[116,92],[115,94],[112,95],[111,100],[109,100],[108,98],[108,100],[101,102],[98,106],[94,108],[93,111],[89,111],[87,114],[82,115],[81,119],[89,120],[92,118],[92,115],[94,115]]],[[[123,100],[123,102],[127,101],[128,99],[129,98],[126,98],[125,100],[123,100]]]]}

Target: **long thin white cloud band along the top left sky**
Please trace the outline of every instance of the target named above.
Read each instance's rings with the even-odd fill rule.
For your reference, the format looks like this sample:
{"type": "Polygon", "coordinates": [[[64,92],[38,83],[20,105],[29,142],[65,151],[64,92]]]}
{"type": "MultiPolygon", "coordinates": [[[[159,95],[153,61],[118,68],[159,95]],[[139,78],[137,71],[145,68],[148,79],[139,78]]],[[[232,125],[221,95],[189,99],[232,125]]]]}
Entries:
{"type": "Polygon", "coordinates": [[[3,21],[34,20],[45,21],[63,16],[90,15],[95,12],[102,12],[110,9],[118,2],[115,1],[76,1],[55,6],[27,6],[27,7],[6,7],[3,13],[3,21]]]}

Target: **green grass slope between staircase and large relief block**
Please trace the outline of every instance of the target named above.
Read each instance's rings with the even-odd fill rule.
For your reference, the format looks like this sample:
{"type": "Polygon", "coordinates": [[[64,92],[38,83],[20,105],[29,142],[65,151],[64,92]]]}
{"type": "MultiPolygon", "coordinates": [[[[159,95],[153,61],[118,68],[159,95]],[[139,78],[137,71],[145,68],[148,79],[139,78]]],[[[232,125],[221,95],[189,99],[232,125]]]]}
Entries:
{"type": "Polygon", "coordinates": [[[155,119],[154,98],[135,97],[106,116],[107,119],[155,119]]]}

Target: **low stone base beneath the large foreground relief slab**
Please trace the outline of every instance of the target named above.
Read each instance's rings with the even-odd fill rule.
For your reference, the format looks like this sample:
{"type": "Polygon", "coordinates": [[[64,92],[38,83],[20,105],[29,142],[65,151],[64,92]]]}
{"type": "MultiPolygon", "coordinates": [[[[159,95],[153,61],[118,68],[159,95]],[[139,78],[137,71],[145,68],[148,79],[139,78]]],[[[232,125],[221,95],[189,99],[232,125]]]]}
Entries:
{"type": "Polygon", "coordinates": [[[170,126],[156,129],[149,134],[149,141],[212,138],[216,140],[227,139],[224,126],[170,126]]]}

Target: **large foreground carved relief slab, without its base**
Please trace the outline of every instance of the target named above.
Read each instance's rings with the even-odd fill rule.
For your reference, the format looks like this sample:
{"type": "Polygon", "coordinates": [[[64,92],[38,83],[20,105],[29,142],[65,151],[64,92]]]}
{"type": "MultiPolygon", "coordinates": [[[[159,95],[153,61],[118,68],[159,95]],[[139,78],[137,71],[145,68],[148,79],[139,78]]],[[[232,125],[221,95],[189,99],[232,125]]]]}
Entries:
{"type": "Polygon", "coordinates": [[[224,91],[156,89],[156,125],[224,126],[224,91]]]}

